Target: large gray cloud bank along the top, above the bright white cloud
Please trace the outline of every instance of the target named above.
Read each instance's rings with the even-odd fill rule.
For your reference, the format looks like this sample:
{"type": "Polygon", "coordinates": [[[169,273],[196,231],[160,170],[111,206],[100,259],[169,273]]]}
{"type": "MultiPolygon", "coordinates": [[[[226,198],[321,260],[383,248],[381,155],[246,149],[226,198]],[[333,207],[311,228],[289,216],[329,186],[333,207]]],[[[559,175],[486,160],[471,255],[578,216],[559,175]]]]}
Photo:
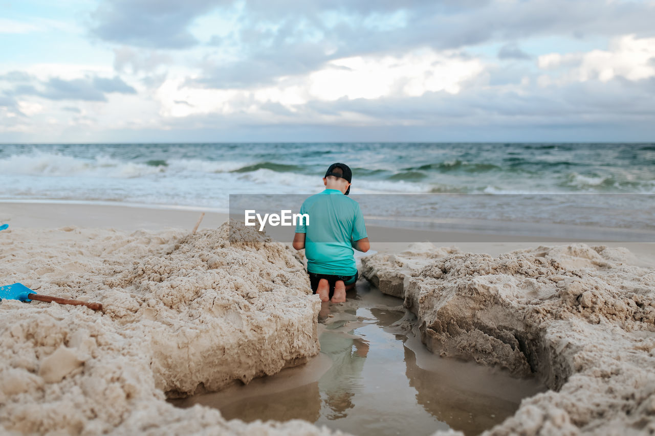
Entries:
{"type": "Polygon", "coordinates": [[[196,86],[230,88],[269,84],[285,75],[301,75],[320,68],[329,60],[358,55],[403,54],[431,46],[437,50],[465,48],[489,42],[510,41],[498,57],[529,59],[514,41],[548,35],[607,35],[636,33],[654,35],[651,17],[655,8],[643,3],[608,3],[595,0],[533,0],[512,4],[489,1],[415,2],[288,2],[246,3],[242,29],[229,38],[212,39],[221,47],[240,46],[243,59],[236,62],[198,62],[202,69],[196,86]],[[266,5],[269,5],[268,7],[266,5]],[[406,9],[403,9],[406,8],[406,9]],[[328,26],[321,18],[326,10],[342,10],[354,18],[328,26]],[[407,26],[367,29],[362,23],[372,14],[404,10],[407,26]],[[284,12],[284,14],[282,13],[284,12]],[[258,27],[274,23],[272,30],[258,27]],[[316,35],[320,35],[317,37],[316,35]]]}

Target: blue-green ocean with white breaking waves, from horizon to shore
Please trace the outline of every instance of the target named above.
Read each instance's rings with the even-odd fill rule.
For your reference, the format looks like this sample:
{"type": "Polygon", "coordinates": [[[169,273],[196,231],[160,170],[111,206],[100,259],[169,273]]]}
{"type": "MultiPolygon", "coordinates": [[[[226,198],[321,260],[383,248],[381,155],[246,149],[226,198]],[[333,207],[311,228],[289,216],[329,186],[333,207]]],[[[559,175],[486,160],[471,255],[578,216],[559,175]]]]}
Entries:
{"type": "Polygon", "coordinates": [[[229,194],[319,192],[333,162],[352,168],[351,194],[369,216],[411,217],[414,227],[470,219],[655,230],[655,143],[4,144],[0,200],[225,212],[229,194]]]}

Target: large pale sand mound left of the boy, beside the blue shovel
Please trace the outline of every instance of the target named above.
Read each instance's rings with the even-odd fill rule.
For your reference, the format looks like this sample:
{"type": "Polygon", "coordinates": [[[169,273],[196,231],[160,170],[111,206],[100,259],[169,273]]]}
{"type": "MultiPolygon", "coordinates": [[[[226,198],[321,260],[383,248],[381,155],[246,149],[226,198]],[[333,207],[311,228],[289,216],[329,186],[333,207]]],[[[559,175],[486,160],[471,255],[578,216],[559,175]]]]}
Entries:
{"type": "Polygon", "coordinates": [[[318,353],[320,301],[282,244],[229,226],[191,235],[10,230],[0,276],[87,308],[0,304],[0,427],[56,434],[330,433],[226,422],[169,395],[218,390],[318,353]]]}

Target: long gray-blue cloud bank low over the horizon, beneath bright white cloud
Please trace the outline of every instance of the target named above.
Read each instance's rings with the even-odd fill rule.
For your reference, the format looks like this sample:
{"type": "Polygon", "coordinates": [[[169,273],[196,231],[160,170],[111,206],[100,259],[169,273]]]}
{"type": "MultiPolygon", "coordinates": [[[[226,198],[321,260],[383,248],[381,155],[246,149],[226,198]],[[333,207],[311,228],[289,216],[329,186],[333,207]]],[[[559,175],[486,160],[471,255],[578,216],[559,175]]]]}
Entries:
{"type": "MultiPolygon", "coordinates": [[[[413,98],[309,101],[296,112],[275,102],[257,103],[246,96],[231,101],[233,113],[166,118],[162,122],[172,130],[189,126],[198,131],[224,128],[230,134],[240,132],[242,140],[251,140],[257,134],[248,132],[270,132],[272,126],[290,135],[293,128],[299,132],[312,129],[318,132],[320,128],[331,127],[339,134],[358,128],[358,132],[368,135],[367,140],[383,140],[379,134],[386,129],[406,135],[389,136],[387,140],[417,138],[413,132],[446,132],[449,135],[455,132],[460,140],[476,136],[479,141],[491,140],[491,137],[502,140],[612,140],[603,138],[600,132],[603,135],[620,132],[626,135],[624,140],[646,140],[648,135],[655,134],[651,122],[655,117],[655,79],[626,81],[616,78],[608,82],[572,82],[546,87],[528,84],[520,88],[480,85],[465,87],[459,94],[428,92],[413,98]],[[270,116],[246,113],[253,104],[270,116]],[[353,113],[363,117],[352,117],[353,113]],[[367,121],[362,122],[362,119],[367,121]],[[250,130],[245,130],[246,126],[250,130]],[[633,130],[626,131],[626,126],[633,130]],[[487,136],[490,132],[496,136],[487,136]]],[[[307,139],[300,135],[294,138],[307,139]]],[[[325,137],[326,140],[333,138],[325,137]]]]}

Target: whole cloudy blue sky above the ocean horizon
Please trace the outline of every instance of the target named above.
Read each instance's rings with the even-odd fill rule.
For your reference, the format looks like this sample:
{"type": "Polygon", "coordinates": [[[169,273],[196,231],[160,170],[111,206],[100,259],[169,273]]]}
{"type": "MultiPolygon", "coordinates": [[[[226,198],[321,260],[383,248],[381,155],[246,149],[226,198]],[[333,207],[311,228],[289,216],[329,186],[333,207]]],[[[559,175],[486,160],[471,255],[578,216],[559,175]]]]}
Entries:
{"type": "Polygon", "coordinates": [[[655,141],[655,0],[0,0],[0,143],[655,141]]]}

